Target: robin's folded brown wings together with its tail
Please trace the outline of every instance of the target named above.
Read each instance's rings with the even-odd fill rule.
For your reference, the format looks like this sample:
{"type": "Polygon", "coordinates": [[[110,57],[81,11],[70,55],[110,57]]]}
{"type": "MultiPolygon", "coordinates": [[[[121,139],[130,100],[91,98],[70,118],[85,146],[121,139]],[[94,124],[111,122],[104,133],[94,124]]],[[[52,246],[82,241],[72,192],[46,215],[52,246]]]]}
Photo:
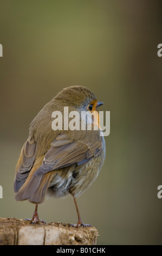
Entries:
{"type": "Polygon", "coordinates": [[[15,180],[16,200],[28,199],[30,202],[42,203],[50,180],[55,170],[77,164],[80,166],[100,154],[102,150],[101,137],[93,143],[83,141],[72,142],[62,133],[51,143],[46,155],[35,160],[36,145],[27,141],[22,149],[17,164],[15,180]],[[24,183],[24,181],[26,181],[24,183]],[[23,184],[24,183],[24,184],[23,184]],[[22,186],[23,185],[23,186],[22,186]]]}

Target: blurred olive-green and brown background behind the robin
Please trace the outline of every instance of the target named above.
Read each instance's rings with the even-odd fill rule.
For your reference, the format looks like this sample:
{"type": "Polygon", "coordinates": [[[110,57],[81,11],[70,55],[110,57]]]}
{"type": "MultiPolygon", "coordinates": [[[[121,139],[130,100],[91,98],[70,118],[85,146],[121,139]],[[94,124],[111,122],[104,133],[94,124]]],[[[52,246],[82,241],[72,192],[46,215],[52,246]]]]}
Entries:
{"type": "MultiPolygon", "coordinates": [[[[93,90],[111,112],[106,160],[77,199],[98,245],[162,244],[161,1],[0,2],[1,217],[30,218],[16,202],[15,166],[29,124],[64,87],[93,90]]],[[[46,222],[76,223],[72,197],[38,207],[46,222]]]]}

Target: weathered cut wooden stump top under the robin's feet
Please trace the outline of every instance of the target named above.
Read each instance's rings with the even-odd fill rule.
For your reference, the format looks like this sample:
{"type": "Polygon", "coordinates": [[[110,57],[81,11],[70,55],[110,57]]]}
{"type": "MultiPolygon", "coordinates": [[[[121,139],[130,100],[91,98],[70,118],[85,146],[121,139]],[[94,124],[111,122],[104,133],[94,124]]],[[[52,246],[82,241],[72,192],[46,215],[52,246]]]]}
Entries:
{"type": "Polygon", "coordinates": [[[68,223],[38,223],[0,218],[0,245],[96,245],[94,227],[69,227],[68,223]]]}

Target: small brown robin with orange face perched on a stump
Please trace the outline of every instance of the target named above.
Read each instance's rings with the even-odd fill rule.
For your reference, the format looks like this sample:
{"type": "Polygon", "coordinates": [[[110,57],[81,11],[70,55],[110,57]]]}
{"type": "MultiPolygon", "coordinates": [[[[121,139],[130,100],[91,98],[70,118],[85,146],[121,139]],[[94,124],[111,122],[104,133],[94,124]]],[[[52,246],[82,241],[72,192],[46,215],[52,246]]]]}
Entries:
{"type": "MultiPolygon", "coordinates": [[[[14,181],[15,199],[28,199],[36,204],[33,217],[28,219],[31,223],[44,222],[38,217],[37,207],[44,202],[46,195],[59,198],[71,194],[78,221],[76,225],[70,225],[89,225],[81,220],[76,197],[87,190],[98,176],[105,160],[105,139],[100,125],[98,130],[70,130],[64,129],[63,123],[62,130],[53,130],[52,113],[60,111],[64,122],[64,107],[68,107],[69,112],[77,111],[81,120],[83,111],[97,112],[96,108],[102,104],[86,87],[64,88],[31,122],[28,139],[16,165],[14,181]]],[[[93,120],[92,117],[92,127],[93,120]]]]}

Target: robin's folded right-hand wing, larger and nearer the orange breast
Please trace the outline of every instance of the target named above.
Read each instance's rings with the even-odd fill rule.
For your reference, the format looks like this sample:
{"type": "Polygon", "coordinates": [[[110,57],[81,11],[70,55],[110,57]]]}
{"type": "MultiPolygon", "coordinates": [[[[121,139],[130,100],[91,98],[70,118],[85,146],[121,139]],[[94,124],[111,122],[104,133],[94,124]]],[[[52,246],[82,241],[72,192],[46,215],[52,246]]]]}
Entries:
{"type": "Polygon", "coordinates": [[[81,165],[92,157],[98,156],[102,150],[101,139],[96,139],[93,143],[83,143],[82,141],[70,142],[66,135],[59,136],[51,143],[35,176],[73,164],[81,165]]]}

